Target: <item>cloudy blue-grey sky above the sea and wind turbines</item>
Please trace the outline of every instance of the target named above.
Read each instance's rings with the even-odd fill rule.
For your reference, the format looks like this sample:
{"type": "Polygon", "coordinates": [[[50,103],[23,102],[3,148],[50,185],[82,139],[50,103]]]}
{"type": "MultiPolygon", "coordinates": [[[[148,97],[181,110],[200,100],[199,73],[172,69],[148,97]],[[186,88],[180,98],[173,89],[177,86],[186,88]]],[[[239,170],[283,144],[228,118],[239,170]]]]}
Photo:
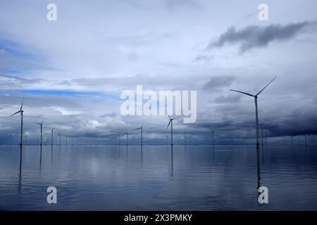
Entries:
{"type": "Polygon", "coordinates": [[[193,143],[253,143],[254,100],[268,136],[317,133],[316,1],[4,1],[0,7],[0,144],[18,143],[24,97],[29,143],[50,134],[81,143],[166,140],[167,116],[123,116],[120,94],[137,85],[154,91],[197,91],[197,120],[174,121],[193,143]],[[57,20],[46,19],[56,4],[57,20]],[[268,5],[268,21],[258,18],[268,5]],[[121,138],[123,139],[123,138],[121,138]]]}

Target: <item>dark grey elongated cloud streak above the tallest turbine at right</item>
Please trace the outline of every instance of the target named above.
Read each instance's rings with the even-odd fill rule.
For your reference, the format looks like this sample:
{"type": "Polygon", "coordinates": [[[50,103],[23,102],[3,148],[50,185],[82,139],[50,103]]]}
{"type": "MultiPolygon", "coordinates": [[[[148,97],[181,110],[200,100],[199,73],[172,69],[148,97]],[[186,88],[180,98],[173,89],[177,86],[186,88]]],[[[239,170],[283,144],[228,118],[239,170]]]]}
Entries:
{"type": "Polygon", "coordinates": [[[250,49],[266,47],[272,41],[286,41],[298,34],[314,32],[316,27],[316,20],[287,25],[271,24],[266,27],[247,26],[239,30],[230,27],[216,41],[211,41],[207,49],[219,48],[225,44],[239,44],[240,53],[244,53],[250,49]]]}

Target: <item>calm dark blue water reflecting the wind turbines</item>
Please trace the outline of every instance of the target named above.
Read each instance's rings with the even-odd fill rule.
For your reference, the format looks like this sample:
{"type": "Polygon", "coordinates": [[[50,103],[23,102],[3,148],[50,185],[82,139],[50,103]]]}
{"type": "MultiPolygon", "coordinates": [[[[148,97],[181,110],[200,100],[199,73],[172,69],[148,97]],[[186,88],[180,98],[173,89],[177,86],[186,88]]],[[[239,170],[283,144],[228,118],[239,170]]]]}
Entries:
{"type": "Polygon", "coordinates": [[[0,210],[317,210],[316,190],[316,146],[0,147],[0,210]]]}

